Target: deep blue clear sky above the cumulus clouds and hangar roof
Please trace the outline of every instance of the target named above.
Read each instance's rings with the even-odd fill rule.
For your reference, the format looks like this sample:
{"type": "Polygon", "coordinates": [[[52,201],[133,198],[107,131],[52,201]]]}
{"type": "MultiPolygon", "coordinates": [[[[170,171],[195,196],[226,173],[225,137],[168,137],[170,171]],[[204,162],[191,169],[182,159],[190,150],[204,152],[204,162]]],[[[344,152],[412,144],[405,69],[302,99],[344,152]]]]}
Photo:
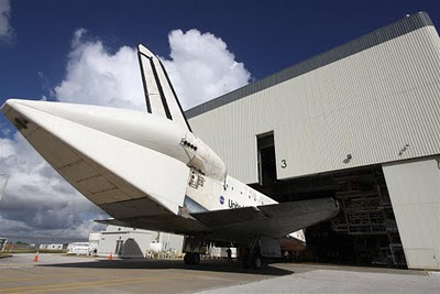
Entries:
{"type": "Polygon", "coordinates": [[[0,45],[0,102],[48,96],[66,69],[75,30],[110,50],[145,43],[167,56],[167,34],[198,29],[221,37],[255,79],[356,36],[427,11],[439,1],[11,1],[12,44],[0,45]],[[42,80],[37,73],[44,73],[42,80]]]}

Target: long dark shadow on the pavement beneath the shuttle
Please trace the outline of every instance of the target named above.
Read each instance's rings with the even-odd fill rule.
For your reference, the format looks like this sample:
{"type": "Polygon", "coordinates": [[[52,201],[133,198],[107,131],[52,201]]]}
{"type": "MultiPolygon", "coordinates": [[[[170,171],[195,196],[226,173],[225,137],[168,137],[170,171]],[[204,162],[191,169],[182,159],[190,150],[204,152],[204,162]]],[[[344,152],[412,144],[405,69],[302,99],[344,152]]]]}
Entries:
{"type": "Polygon", "coordinates": [[[226,260],[201,260],[197,265],[186,265],[183,260],[147,260],[147,259],[125,259],[125,260],[95,260],[89,262],[73,262],[73,263],[54,263],[41,264],[37,266],[48,268],[88,268],[88,269],[180,269],[191,271],[209,271],[209,272],[231,272],[231,273],[248,273],[261,275],[287,275],[293,274],[293,271],[283,270],[268,265],[261,270],[243,269],[240,261],[228,262],[226,260]]]}

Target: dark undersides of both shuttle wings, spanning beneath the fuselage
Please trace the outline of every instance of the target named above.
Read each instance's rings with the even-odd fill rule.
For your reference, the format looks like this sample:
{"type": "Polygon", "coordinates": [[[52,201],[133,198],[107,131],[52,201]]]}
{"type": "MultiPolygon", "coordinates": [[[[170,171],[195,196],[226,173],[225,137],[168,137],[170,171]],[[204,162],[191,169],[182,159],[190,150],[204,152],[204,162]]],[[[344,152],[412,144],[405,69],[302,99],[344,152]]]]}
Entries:
{"type": "Polygon", "coordinates": [[[243,242],[255,236],[283,238],[293,231],[333,218],[339,213],[339,204],[333,198],[321,198],[190,214],[191,218],[144,216],[141,210],[139,215],[128,217],[133,215],[130,213],[132,210],[132,207],[119,206],[116,211],[111,211],[116,219],[96,221],[243,242]]]}

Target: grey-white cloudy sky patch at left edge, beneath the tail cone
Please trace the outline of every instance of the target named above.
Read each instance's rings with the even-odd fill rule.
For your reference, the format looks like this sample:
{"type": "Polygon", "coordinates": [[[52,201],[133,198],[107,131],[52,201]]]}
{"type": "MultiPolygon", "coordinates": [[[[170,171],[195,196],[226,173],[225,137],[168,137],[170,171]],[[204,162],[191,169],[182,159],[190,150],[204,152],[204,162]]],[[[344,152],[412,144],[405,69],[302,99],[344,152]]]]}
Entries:
{"type": "Polygon", "coordinates": [[[102,213],[18,132],[13,139],[0,139],[0,173],[10,175],[0,200],[2,235],[87,238],[99,226],[92,219],[102,213]]]}

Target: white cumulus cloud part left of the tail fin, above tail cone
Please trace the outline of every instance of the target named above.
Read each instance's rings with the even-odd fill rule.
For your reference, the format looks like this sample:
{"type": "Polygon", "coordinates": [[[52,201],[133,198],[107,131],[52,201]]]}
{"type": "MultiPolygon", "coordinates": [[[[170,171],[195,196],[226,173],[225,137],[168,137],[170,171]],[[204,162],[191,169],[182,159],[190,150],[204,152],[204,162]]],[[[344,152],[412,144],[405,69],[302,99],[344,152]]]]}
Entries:
{"type": "Polygon", "coordinates": [[[110,54],[102,42],[75,32],[65,79],[54,89],[59,101],[145,109],[138,56],[123,46],[110,54]]]}

